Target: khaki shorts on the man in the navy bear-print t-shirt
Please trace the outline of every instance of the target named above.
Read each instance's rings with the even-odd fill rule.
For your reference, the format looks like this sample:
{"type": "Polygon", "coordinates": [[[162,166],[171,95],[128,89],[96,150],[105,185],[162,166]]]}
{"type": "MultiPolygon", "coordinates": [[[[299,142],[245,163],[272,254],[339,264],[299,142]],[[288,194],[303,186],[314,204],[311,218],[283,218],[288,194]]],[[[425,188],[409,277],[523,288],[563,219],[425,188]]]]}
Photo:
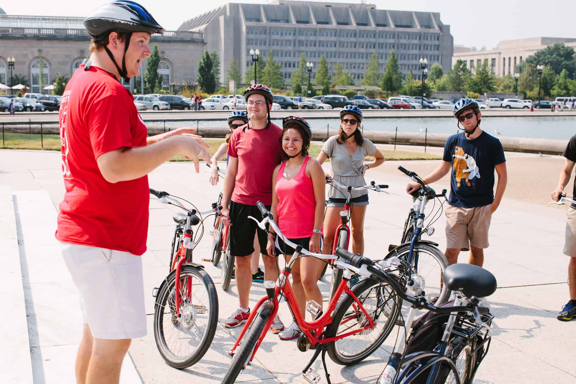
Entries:
{"type": "Polygon", "coordinates": [[[488,228],[492,211],[490,205],[465,208],[446,207],[446,248],[468,251],[470,246],[488,248],[488,228]]]}

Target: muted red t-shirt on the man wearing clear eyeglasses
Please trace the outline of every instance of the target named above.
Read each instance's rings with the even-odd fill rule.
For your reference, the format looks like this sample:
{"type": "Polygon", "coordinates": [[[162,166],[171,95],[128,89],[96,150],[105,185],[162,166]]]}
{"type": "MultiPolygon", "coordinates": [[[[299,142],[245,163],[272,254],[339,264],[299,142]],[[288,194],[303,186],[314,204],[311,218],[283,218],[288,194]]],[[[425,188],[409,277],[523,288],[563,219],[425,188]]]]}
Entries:
{"type": "Polygon", "coordinates": [[[272,204],[272,173],[282,162],[281,136],[282,129],[272,123],[266,129],[242,126],[234,130],[228,144],[228,155],[238,158],[232,201],[272,204]]]}

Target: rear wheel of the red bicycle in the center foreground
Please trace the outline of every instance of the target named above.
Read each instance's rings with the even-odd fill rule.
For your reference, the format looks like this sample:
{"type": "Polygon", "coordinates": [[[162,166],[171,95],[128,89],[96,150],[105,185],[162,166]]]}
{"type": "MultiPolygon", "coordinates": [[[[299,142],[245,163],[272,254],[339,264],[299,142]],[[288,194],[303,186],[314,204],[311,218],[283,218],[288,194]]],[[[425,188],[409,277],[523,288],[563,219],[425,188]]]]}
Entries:
{"type": "MultiPolygon", "coordinates": [[[[400,314],[401,299],[388,285],[381,285],[376,280],[366,278],[355,284],[352,292],[363,303],[367,313],[374,317],[377,325],[371,331],[348,336],[328,345],[328,356],[333,362],[342,366],[356,364],[372,355],[392,332],[400,314]],[[375,305],[372,304],[374,300],[376,300],[375,305]],[[384,321],[379,321],[382,320],[383,316],[385,317],[384,321]],[[378,324],[382,325],[380,329],[378,329],[378,324]],[[378,332],[377,335],[374,335],[374,332],[378,332]],[[364,338],[361,339],[361,337],[367,339],[367,345],[366,342],[363,342],[365,341],[364,338]],[[361,348],[362,344],[365,344],[365,347],[355,353],[342,351],[344,345],[361,348]]],[[[334,311],[332,323],[327,327],[326,337],[335,337],[339,333],[350,332],[354,327],[365,326],[366,317],[361,311],[354,308],[353,304],[355,303],[350,295],[345,295],[340,300],[334,311]]]]}

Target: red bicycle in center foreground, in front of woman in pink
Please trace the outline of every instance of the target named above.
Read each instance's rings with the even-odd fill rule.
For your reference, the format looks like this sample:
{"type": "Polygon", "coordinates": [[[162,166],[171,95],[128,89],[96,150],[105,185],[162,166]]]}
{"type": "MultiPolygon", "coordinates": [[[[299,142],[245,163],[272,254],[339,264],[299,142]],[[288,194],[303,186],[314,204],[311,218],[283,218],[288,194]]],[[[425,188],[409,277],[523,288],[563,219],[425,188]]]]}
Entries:
{"type": "Polygon", "coordinates": [[[331,258],[332,255],[310,253],[302,249],[302,246],[294,244],[282,234],[273,220],[272,213],[262,202],[257,202],[257,206],[262,212],[262,221],[259,222],[253,217],[249,219],[256,221],[264,231],[267,231],[267,224],[270,225],[276,235],[280,236],[287,246],[293,247],[295,252],[286,268],[279,273],[277,283],[264,281],[267,296],[260,299],[253,307],[234,343],[230,351],[230,356],[234,356],[232,364],[222,383],[232,384],[240,371],[254,358],[278,313],[278,300],[282,296],[285,296],[294,321],[302,330],[297,342],[298,349],[302,352],[308,351],[309,348],[316,349],[314,356],[302,370],[305,379],[310,383],[320,380],[320,375],[310,366],[322,352],[324,371],[329,383],[325,363],[326,352],[332,361],[341,365],[358,363],[370,356],[391,333],[401,300],[388,285],[382,285],[370,278],[363,279],[350,288],[347,284],[350,273],[345,273],[326,311],[323,312],[320,304],[314,300],[306,303],[306,311],[312,314],[313,321],[305,321],[288,278],[291,267],[300,257],[316,257],[325,260],[331,258]]]}

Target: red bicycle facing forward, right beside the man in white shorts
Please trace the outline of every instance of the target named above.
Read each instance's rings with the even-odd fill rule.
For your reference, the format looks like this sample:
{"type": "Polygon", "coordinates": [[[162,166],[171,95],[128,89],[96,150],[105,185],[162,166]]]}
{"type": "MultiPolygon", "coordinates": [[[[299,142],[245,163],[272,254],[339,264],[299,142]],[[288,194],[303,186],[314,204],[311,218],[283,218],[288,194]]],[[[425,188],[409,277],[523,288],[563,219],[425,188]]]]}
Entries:
{"type": "MultiPolygon", "coordinates": [[[[175,213],[168,276],[154,288],[154,339],[160,355],[169,366],[183,369],[197,363],[210,348],[218,323],[218,294],[204,267],[192,262],[192,250],[199,239],[193,228],[202,223],[202,214],[219,214],[221,207],[205,212],[187,209],[174,196],[150,189],[164,204],[175,205],[185,213],[175,213]]],[[[184,200],[184,199],[182,199],[184,200]]],[[[185,200],[184,200],[185,201],[185,200]]],[[[202,238],[202,231],[200,238],[202,238]]]]}

